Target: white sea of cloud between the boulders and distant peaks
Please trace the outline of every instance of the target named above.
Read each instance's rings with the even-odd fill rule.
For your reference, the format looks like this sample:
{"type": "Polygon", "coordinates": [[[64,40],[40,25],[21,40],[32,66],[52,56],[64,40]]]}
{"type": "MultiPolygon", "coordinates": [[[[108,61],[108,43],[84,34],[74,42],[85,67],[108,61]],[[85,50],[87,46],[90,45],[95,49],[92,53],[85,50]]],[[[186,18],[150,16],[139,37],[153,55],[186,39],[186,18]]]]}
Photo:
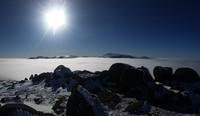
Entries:
{"type": "Polygon", "coordinates": [[[152,73],[157,65],[169,66],[174,70],[190,67],[200,74],[200,59],[128,59],[128,58],[73,58],[73,59],[0,59],[0,79],[22,80],[31,74],[52,72],[62,64],[74,70],[108,70],[116,62],[127,63],[135,67],[145,66],[152,73]]]}

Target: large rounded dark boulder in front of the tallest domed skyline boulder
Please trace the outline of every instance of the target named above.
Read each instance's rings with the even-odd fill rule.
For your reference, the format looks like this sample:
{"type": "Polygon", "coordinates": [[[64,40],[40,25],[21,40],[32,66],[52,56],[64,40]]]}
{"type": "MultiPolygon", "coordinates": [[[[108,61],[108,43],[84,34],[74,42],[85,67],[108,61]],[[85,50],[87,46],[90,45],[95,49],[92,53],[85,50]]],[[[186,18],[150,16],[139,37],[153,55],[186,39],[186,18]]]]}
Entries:
{"type": "Polygon", "coordinates": [[[142,85],[146,82],[144,75],[145,74],[142,70],[129,67],[123,72],[120,84],[124,89],[130,89],[131,87],[142,85]]]}

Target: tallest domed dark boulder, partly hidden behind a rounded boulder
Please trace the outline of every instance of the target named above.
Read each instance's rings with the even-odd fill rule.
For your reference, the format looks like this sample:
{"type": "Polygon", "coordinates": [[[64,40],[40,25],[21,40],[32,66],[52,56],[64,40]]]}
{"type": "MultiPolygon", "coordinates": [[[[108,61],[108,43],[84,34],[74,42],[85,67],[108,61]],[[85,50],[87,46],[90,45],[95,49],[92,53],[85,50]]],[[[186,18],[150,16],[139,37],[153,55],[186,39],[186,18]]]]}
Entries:
{"type": "Polygon", "coordinates": [[[123,74],[123,72],[129,68],[132,67],[129,64],[124,64],[124,63],[115,63],[113,64],[110,68],[109,68],[109,79],[116,83],[119,84],[120,82],[120,78],[123,74]]]}

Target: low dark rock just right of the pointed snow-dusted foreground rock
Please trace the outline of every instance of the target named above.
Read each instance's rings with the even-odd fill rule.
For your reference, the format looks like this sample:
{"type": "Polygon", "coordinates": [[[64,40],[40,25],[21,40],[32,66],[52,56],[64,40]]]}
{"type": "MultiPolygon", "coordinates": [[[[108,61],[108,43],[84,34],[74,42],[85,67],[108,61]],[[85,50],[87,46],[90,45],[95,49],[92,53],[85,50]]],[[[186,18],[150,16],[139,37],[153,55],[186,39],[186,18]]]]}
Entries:
{"type": "Polygon", "coordinates": [[[116,93],[109,91],[100,91],[97,96],[104,105],[111,109],[114,109],[121,102],[120,97],[116,93]]]}

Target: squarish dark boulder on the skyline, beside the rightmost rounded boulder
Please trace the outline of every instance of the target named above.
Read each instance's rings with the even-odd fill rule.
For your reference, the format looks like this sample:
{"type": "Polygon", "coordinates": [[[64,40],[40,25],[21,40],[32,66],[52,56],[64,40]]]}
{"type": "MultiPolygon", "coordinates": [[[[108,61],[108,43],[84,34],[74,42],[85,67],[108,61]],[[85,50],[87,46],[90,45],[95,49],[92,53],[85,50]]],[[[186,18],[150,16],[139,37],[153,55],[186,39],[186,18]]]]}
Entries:
{"type": "Polygon", "coordinates": [[[170,80],[173,75],[173,69],[170,67],[161,67],[156,66],[153,69],[153,74],[155,77],[155,81],[157,82],[165,82],[166,80],[170,80]]]}

